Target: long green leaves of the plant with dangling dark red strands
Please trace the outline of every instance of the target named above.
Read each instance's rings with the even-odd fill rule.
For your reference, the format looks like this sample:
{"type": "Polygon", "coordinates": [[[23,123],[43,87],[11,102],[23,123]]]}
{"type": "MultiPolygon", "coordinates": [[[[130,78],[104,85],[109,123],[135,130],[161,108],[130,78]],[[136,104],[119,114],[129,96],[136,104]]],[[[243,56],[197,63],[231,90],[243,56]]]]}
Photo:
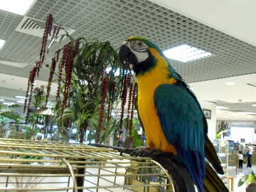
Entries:
{"type": "MultiPolygon", "coordinates": [[[[66,34],[68,36],[68,34],[66,34]]],[[[75,45],[73,38],[70,41],[75,45]]],[[[95,139],[97,134],[97,127],[99,122],[101,86],[102,78],[107,77],[109,79],[108,85],[112,82],[116,89],[110,100],[110,93],[107,92],[106,105],[110,105],[110,113],[115,105],[117,105],[117,99],[119,97],[119,87],[121,87],[121,73],[119,76],[115,76],[114,73],[119,70],[120,67],[119,57],[117,52],[112,48],[110,42],[100,41],[87,41],[84,38],[80,40],[80,48],[78,55],[75,57],[73,64],[73,73],[71,75],[70,90],[68,92],[68,105],[63,112],[61,118],[60,105],[61,102],[57,102],[53,109],[58,127],[65,129],[65,121],[71,119],[72,125],[78,127],[80,132],[82,129],[89,131],[88,139],[95,139]],[[103,74],[102,70],[110,68],[110,72],[103,74]],[[63,120],[60,122],[60,120],[63,120]]],[[[65,77],[63,77],[65,78],[65,77]]],[[[64,80],[63,80],[64,81],[64,80]]],[[[63,90],[63,89],[61,89],[63,90]]],[[[107,110],[107,107],[105,107],[107,110]]],[[[102,127],[105,132],[100,133],[100,141],[103,142],[112,133],[113,129],[116,129],[117,122],[110,117],[107,119],[107,112],[104,114],[104,120],[102,127]]]]}

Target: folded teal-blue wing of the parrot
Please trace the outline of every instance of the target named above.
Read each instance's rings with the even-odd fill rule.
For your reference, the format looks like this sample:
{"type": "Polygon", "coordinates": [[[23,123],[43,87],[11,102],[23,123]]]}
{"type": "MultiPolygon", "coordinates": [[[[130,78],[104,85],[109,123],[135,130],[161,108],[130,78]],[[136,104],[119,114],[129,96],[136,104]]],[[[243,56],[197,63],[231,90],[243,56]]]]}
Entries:
{"type": "Polygon", "coordinates": [[[154,104],[161,128],[169,144],[176,148],[198,191],[205,176],[203,112],[198,101],[182,85],[159,85],[154,104]]]}

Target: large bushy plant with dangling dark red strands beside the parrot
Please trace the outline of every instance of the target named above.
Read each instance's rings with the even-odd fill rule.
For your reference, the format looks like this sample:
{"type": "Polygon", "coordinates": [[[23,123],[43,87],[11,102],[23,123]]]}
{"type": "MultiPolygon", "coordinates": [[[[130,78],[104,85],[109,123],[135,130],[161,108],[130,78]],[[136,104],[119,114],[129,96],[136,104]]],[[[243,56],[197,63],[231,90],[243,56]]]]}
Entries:
{"type": "MultiPolygon", "coordinates": [[[[34,80],[39,74],[46,57],[47,37],[53,28],[53,16],[49,15],[46,21],[46,30],[43,35],[40,58],[33,66],[28,78],[28,90],[24,112],[31,103],[34,80]]],[[[59,31],[57,27],[55,31],[59,31]]],[[[58,33],[53,32],[52,45],[58,33]]],[[[56,105],[54,111],[58,128],[70,129],[73,125],[79,128],[80,142],[84,141],[87,129],[95,133],[96,142],[104,142],[106,134],[122,130],[124,105],[128,103],[127,129],[129,143],[132,143],[132,119],[134,111],[137,85],[134,84],[132,73],[119,64],[119,57],[110,45],[110,42],[97,40],[87,41],[85,38],[73,39],[67,34],[69,41],[62,48],[55,51],[51,64],[46,64],[50,74],[46,87],[46,103],[50,95],[50,85],[54,79],[58,82],[56,105]],[[119,71],[119,75],[114,75],[119,71]],[[112,117],[113,108],[122,100],[119,122],[112,117]],[[97,125],[95,125],[97,121],[97,125]]],[[[48,50],[50,52],[51,50],[48,50]]]]}

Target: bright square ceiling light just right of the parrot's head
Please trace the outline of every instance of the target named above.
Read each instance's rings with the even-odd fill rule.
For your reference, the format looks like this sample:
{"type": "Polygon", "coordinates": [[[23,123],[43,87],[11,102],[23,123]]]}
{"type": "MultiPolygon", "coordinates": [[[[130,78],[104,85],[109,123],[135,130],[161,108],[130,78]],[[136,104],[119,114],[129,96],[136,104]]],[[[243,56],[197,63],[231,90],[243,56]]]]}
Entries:
{"type": "Polygon", "coordinates": [[[210,57],[212,53],[184,44],[175,48],[164,50],[164,55],[166,58],[179,60],[183,63],[186,63],[191,60],[210,57]]]}

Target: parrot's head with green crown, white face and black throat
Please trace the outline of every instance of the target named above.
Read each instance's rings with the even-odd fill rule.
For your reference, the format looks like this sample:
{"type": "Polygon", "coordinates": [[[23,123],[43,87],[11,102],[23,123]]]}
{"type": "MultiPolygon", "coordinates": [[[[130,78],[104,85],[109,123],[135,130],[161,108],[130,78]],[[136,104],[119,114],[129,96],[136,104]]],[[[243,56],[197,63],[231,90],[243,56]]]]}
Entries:
{"type": "Polygon", "coordinates": [[[132,36],[120,47],[119,58],[121,63],[129,65],[136,75],[143,74],[156,65],[151,50],[156,50],[161,56],[164,56],[153,42],[142,37],[132,36]]]}

